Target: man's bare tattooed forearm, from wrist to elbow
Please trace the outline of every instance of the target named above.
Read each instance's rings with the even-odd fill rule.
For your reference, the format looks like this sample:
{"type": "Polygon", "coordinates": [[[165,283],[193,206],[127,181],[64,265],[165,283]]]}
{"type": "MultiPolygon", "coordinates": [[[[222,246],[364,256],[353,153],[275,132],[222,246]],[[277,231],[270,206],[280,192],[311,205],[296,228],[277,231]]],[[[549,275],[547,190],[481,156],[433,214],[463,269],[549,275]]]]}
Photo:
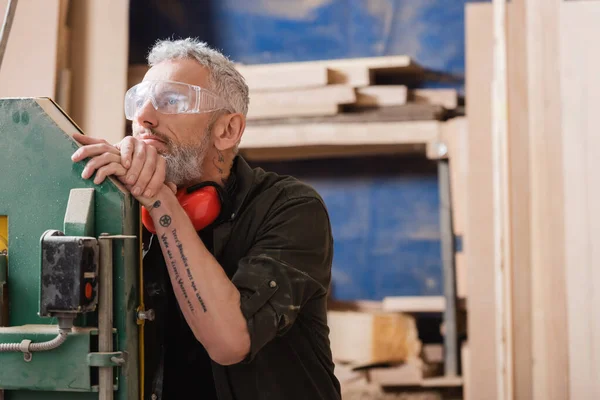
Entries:
{"type": "Polygon", "coordinates": [[[159,196],[150,214],[175,296],[196,338],[216,362],[241,361],[250,349],[250,338],[239,291],[174,195],[159,196]]]}

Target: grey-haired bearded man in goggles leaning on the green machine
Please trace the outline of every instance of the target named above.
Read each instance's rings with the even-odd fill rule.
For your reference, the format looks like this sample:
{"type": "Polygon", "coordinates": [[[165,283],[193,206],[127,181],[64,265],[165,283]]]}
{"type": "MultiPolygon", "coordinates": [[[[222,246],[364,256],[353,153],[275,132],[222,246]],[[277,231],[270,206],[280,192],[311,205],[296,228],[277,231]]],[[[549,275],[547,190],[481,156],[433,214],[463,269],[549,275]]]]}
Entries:
{"type": "Polygon", "coordinates": [[[192,39],[161,41],[125,97],[133,135],[77,135],[82,177],[116,176],[156,232],[144,254],[146,397],[339,399],[327,327],[333,240],[319,195],[237,154],[248,87],[192,39]],[[176,193],[214,182],[219,218],[197,232],[176,193]]]}

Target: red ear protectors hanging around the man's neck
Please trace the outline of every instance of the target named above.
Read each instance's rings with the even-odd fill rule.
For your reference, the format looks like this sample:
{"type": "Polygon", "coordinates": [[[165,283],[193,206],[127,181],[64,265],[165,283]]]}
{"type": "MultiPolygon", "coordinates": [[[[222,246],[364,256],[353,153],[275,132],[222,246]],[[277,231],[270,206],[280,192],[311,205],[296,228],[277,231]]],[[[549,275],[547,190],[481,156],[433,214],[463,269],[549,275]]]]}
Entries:
{"type": "MultiPolygon", "coordinates": [[[[206,228],[221,215],[225,199],[223,189],[214,182],[202,182],[180,189],[176,197],[196,231],[206,228]]],[[[156,233],[154,222],[146,207],[142,207],[142,223],[148,231],[156,233]]]]}

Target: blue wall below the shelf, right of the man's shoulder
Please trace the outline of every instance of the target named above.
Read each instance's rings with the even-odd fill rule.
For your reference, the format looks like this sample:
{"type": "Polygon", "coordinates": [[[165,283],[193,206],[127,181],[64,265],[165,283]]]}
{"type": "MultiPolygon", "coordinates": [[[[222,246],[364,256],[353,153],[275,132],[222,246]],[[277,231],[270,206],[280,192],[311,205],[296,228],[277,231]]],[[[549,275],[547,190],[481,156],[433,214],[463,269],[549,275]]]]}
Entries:
{"type": "Polygon", "coordinates": [[[334,298],[443,293],[435,163],[369,157],[251,164],[296,176],[325,200],[334,298]]]}

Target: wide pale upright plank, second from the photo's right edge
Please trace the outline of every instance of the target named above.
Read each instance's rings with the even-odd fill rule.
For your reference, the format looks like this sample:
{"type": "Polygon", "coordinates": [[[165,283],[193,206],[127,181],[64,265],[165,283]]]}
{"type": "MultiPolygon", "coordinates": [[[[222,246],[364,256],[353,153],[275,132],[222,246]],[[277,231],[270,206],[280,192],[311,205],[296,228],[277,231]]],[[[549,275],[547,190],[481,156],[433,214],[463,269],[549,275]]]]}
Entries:
{"type": "MultiPolygon", "coordinates": [[[[532,376],[535,400],[569,398],[560,3],[559,0],[526,0],[525,9],[531,168],[532,349],[535,360],[532,376]]],[[[571,45],[569,43],[565,47],[571,45]]],[[[564,82],[565,85],[567,83],[564,82]]],[[[580,112],[574,109],[565,111],[580,112]]],[[[475,352],[474,348],[471,350],[475,352]]]]}

